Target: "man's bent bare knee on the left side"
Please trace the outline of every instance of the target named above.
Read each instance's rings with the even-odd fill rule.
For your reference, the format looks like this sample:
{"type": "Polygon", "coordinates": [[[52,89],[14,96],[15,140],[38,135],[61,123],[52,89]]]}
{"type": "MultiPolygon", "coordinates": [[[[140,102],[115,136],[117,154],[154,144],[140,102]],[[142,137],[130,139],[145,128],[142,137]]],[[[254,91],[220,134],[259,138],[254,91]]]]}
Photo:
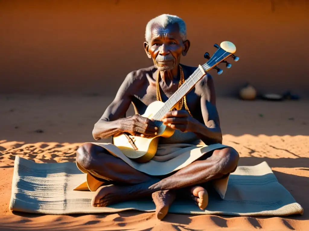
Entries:
{"type": "Polygon", "coordinates": [[[76,162],[86,170],[91,168],[94,145],[95,144],[84,143],[76,151],[76,162]]]}

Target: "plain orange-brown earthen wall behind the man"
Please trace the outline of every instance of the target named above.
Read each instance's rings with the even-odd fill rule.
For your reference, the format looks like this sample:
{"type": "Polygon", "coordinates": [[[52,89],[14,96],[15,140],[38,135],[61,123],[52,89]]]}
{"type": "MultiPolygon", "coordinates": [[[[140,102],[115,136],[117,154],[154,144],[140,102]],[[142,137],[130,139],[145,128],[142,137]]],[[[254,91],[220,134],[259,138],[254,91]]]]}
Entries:
{"type": "Polygon", "coordinates": [[[214,76],[218,95],[246,82],[260,92],[309,95],[309,1],[0,1],[0,93],[114,95],[125,75],[150,66],[146,23],[182,17],[187,65],[205,63],[214,43],[233,42],[240,57],[214,76]]]}

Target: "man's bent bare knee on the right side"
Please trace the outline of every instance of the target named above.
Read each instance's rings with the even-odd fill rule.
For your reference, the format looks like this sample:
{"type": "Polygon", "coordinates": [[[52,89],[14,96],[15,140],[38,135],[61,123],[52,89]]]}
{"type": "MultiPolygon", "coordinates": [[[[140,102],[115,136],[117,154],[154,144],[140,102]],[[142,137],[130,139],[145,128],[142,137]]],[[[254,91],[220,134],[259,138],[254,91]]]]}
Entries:
{"type": "Polygon", "coordinates": [[[220,158],[224,163],[224,172],[235,172],[239,160],[239,154],[234,148],[223,148],[219,150],[220,158]]]}

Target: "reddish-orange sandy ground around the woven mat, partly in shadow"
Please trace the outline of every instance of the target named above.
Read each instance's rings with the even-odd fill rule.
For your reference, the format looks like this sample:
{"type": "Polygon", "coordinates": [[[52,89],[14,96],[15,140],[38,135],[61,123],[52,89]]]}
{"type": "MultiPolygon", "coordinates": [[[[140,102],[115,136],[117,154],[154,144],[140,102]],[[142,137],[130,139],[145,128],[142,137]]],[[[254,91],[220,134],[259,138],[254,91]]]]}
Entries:
{"type": "MultiPolygon", "coordinates": [[[[302,216],[227,217],[154,213],[51,216],[11,213],[15,156],[38,163],[75,161],[82,142],[112,99],[99,96],[0,95],[1,230],[308,230],[309,100],[244,102],[218,99],[223,143],[239,151],[239,165],[267,161],[279,182],[303,206],[302,216]]],[[[130,108],[129,114],[133,109],[130,108]]],[[[108,140],[107,140],[108,141],[108,140]]]]}

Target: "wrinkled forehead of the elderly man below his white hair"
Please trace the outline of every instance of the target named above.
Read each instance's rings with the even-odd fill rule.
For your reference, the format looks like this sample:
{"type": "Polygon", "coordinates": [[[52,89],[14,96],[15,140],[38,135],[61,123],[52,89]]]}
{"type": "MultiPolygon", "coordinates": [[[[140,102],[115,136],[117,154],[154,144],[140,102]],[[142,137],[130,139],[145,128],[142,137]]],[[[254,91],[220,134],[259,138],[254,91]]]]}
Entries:
{"type": "Polygon", "coordinates": [[[159,24],[153,24],[151,26],[151,39],[156,39],[162,35],[167,35],[168,37],[180,38],[179,26],[177,23],[168,24],[167,26],[162,26],[159,24]]]}

